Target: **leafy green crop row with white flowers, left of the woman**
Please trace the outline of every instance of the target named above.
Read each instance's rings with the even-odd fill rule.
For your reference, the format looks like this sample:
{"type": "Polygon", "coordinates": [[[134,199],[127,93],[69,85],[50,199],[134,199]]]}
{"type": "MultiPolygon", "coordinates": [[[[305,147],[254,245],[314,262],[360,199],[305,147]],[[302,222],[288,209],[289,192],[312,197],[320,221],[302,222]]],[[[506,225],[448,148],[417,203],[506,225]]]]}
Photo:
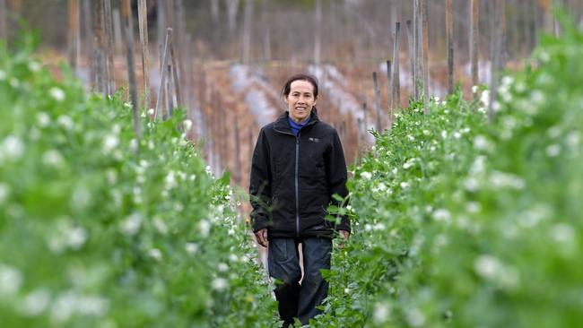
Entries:
{"type": "Polygon", "coordinates": [[[57,81],[19,42],[0,49],[2,326],[273,325],[229,178],[183,114],[138,141],[120,94],[57,81]]]}

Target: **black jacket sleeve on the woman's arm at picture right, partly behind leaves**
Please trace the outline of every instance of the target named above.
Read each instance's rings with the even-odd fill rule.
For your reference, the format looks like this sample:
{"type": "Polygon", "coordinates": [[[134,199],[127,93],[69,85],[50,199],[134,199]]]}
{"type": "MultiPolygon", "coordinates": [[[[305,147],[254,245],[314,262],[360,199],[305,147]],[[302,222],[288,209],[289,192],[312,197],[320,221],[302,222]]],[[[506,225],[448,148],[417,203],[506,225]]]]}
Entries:
{"type": "MultiPolygon", "coordinates": [[[[342,149],[342,143],[340,142],[340,137],[334,131],[333,142],[331,150],[328,151],[326,156],[326,177],[328,179],[328,192],[330,197],[333,194],[338,194],[339,196],[345,198],[348,195],[348,189],[346,188],[347,172],[346,172],[346,160],[344,160],[344,151],[342,149]]],[[[341,205],[335,199],[332,200],[335,205],[341,205]]],[[[346,215],[343,215],[340,224],[336,226],[337,230],[347,230],[350,231],[350,220],[346,215]]]]}

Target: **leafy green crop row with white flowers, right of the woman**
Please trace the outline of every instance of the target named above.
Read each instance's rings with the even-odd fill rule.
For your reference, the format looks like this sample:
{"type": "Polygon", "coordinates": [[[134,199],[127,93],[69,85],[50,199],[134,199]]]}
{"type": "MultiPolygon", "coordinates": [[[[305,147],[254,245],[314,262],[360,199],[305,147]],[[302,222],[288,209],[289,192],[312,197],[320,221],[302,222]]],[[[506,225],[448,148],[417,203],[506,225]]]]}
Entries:
{"type": "Polygon", "coordinates": [[[413,103],[349,182],[355,233],[316,327],[583,324],[583,33],[489,91],[413,103]]]}

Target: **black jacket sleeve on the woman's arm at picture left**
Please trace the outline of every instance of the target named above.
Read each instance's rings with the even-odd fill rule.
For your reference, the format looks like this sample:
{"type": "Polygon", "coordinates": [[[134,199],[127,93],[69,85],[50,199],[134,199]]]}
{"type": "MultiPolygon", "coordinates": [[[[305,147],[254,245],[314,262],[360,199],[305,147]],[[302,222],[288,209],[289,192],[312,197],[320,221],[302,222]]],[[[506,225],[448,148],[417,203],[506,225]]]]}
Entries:
{"type": "Polygon", "coordinates": [[[271,199],[271,168],[269,166],[269,144],[265,138],[265,131],[261,129],[257,143],[253,150],[251,161],[251,177],[249,181],[249,198],[253,210],[251,222],[253,232],[264,229],[269,225],[268,203],[271,199]]]}

